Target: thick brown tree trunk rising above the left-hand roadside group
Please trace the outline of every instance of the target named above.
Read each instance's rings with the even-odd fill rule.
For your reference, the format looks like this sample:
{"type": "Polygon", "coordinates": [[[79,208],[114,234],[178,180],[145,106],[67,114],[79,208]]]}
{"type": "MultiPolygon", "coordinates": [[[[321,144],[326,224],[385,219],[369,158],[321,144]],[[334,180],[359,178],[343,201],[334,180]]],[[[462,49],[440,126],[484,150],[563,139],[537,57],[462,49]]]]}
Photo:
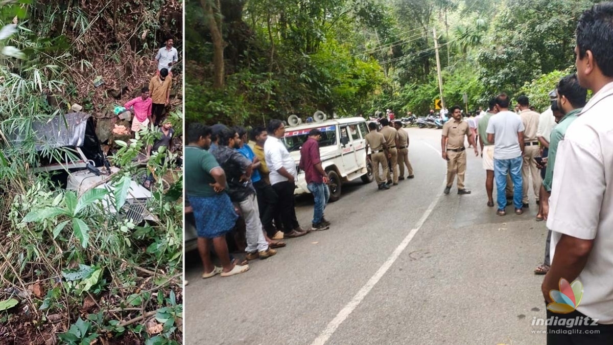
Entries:
{"type": "Polygon", "coordinates": [[[219,0],[200,0],[208,17],[208,30],[213,40],[213,87],[224,87],[224,41],[221,36],[221,4],[219,0]]]}

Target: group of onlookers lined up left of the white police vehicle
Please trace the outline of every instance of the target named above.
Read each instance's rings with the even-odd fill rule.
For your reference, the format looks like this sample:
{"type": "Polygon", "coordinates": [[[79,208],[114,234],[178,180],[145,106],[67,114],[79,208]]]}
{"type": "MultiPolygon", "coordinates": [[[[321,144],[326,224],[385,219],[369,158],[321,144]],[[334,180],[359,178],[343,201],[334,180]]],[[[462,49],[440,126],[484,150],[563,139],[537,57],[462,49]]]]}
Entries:
{"type": "MultiPolygon", "coordinates": [[[[327,174],[321,166],[321,131],[313,129],[300,149],[299,168],[305,172],[314,197],[311,227],[302,228],[294,203],[298,171],[283,142],[285,126],[272,120],[267,128],[251,131],[223,124],[191,123],[185,150],[185,190],[196,222],[197,245],[204,266],[203,278],[248,271],[251,260],[265,259],[285,247],[285,238],[330,228],[324,217],[330,198],[327,174]],[[245,223],[245,260],[232,258],[227,235],[245,223]],[[211,261],[211,244],[221,267],[211,261]]],[[[237,238],[237,236],[228,236],[237,238]]],[[[238,236],[240,237],[240,236],[238,236]]],[[[242,249],[240,240],[235,246],[242,249]]]]}

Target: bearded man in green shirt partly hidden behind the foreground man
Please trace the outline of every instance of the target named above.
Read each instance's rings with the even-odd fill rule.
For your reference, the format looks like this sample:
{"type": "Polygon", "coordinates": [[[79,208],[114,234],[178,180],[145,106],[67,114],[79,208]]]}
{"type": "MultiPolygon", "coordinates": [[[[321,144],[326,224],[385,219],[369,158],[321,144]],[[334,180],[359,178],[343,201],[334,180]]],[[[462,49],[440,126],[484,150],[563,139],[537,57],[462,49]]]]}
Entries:
{"type": "MultiPolygon", "coordinates": [[[[551,195],[552,180],[554,177],[555,155],[558,150],[558,144],[564,139],[566,130],[579,117],[581,109],[585,106],[587,98],[587,89],[579,85],[579,80],[576,74],[563,77],[557,86],[558,98],[555,104],[552,104],[556,122],[554,130],[551,132],[549,139],[549,155],[544,160],[547,163],[545,179],[541,185],[541,206],[543,207],[543,218],[547,220],[549,214],[549,196],[551,195]]],[[[545,260],[543,265],[539,265],[535,269],[535,274],[546,274],[551,265],[549,258],[549,244],[551,242],[551,230],[547,233],[547,241],[545,245],[545,260]]]]}

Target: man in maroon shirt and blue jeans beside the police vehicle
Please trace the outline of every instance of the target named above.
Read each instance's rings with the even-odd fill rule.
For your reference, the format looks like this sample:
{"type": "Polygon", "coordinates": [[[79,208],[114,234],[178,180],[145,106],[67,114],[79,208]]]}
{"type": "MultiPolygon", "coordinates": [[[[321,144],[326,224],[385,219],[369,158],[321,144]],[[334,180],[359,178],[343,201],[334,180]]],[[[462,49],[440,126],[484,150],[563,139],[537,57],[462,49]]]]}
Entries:
{"type": "Polygon", "coordinates": [[[328,176],[319,158],[319,139],[321,139],[321,131],[313,128],[308,134],[307,141],[300,148],[300,169],[305,172],[307,188],[315,200],[313,227],[311,228],[313,231],[330,228],[330,223],[324,219],[324,209],[330,199],[330,189],[327,185],[328,176]]]}

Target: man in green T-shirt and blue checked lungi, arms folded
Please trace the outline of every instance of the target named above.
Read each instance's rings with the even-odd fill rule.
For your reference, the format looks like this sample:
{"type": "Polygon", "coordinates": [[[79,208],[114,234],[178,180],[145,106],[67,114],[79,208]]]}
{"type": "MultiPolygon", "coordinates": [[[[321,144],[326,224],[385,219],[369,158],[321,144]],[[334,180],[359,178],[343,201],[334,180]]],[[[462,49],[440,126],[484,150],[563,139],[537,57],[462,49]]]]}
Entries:
{"type": "Polygon", "coordinates": [[[211,128],[192,123],[187,131],[185,147],[185,194],[196,219],[198,252],[204,266],[203,278],[221,273],[222,277],[246,272],[249,265],[236,265],[230,261],[226,234],[236,223],[238,215],[226,193],[226,174],[215,157],[207,152],[211,145],[211,128]],[[213,265],[209,252],[213,241],[221,267],[213,265]]]}

